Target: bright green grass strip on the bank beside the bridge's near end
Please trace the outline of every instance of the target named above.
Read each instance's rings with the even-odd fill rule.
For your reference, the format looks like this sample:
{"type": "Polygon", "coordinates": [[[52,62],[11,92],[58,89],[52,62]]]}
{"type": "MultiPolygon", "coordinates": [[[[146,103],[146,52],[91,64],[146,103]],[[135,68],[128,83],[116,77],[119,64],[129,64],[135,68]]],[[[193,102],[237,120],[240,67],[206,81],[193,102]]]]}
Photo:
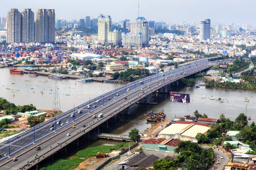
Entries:
{"type": "Polygon", "coordinates": [[[42,170],[65,170],[65,169],[74,169],[79,165],[83,160],[88,159],[92,156],[96,156],[98,152],[109,153],[113,150],[126,149],[134,145],[134,142],[125,142],[115,146],[96,146],[96,147],[87,147],[84,150],[78,151],[76,156],[72,159],[58,159],[55,163],[49,163],[46,167],[41,168],[42,170]]]}

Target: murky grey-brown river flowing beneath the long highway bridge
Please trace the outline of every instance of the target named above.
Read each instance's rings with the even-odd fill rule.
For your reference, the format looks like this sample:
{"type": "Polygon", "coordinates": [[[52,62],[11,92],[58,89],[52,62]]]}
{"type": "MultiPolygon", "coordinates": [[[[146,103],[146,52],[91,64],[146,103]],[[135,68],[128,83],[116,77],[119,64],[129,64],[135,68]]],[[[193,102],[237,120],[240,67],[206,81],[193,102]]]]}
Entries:
{"type": "MultiPolygon", "coordinates": [[[[55,80],[46,76],[29,76],[10,74],[9,69],[0,69],[0,97],[16,105],[34,104],[38,109],[52,109],[53,95],[55,91],[55,80]]],[[[120,84],[110,84],[101,82],[76,82],[72,79],[57,80],[60,94],[60,105],[62,111],[73,108],[104,92],[114,90],[120,84]]],[[[224,90],[216,88],[180,88],[174,91],[186,92],[190,94],[191,103],[179,104],[170,103],[168,96],[166,100],[160,100],[158,105],[143,107],[137,115],[126,124],[119,127],[116,133],[125,133],[133,127],[144,130],[151,126],[146,124],[145,116],[141,113],[153,110],[164,110],[167,118],[192,114],[196,109],[205,113],[210,118],[218,118],[224,113],[227,118],[234,120],[240,113],[246,113],[251,117],[251,121],[256,121],[256,91],[246,90],[224,90]],[[245,99],[249,102],[245,102],[245,99]],[[221,98],[219,101],[218,98],[221,98]],[[247,111],[246,111],[247,110],[247,111]]]]}

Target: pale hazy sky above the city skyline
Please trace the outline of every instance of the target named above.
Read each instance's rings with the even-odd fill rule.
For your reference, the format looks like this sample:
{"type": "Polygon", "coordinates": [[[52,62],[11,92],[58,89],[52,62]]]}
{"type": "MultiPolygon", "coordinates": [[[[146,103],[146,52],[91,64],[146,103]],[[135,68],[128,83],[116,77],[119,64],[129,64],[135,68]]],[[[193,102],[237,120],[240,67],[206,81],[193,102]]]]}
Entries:
{"type": "MultiPolygon", "coordinates": [[[[147,20],[167,23],[200,23],[210,18],[212,23],[256,25],[256,0],[140,0],[140,15],[147,20]]],[[[0,0],[0,16],[10,8],[54,8],[56,19],[80,19],[86,15],[110,15],[113,21],[138,16],[138,0],[0,0]]]]}

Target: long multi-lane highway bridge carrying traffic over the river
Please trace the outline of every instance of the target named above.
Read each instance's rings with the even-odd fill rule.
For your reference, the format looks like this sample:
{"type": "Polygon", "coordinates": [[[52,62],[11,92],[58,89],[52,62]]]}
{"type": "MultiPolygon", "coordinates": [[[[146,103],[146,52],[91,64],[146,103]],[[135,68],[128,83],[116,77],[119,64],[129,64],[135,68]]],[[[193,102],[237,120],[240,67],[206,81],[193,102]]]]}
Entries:
{"type": "Polygon", "coordinates": [[[175,70],[127,83],[36,125],[16,137],[10,137],[8,141],[0,143],[0,170],[28,169],[65,148],[69,143],[89,134],[90,131],[99,129],[100,125],[108,127],[110,118],[112,121],[115,120],[117,115],[125,110],[129,113],[130,107],[138,101],[148,100],[152,93],[168,92],[170,84],[209,69],[212,65],[208,59],[203,59],[175,70]],[[98,116],[101,113],[103,116],[98,116]]]}

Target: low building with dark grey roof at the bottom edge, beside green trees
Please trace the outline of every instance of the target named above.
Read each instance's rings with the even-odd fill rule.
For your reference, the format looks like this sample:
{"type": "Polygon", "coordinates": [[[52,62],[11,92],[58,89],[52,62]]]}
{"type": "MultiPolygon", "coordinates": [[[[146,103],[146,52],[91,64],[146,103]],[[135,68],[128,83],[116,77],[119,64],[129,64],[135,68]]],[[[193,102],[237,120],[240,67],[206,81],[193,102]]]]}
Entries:
{"type": "Polygon", "coordinates": [[[153,163],[158,160],[159,157],[155,155],[146,154],[134,154],[129,158],[123,160],[118,164],[118,169],[128,169],[128,168],[148,168],[152,167],[153,163]]]}

